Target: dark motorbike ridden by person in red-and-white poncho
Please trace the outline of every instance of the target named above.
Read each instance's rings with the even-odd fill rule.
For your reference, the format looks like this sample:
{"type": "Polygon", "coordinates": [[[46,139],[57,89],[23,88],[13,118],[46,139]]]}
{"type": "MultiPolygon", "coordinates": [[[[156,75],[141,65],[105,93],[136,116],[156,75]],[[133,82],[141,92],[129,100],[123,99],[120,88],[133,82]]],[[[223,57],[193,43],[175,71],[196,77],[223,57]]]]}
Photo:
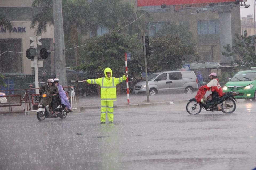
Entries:
{"type": "Polygon", "coordinates": [[[226,114],[233,113],[236,109],[235,92],[227,92],[222,97],[219,97],[218,103],[216,101],[208,101],[207,103],[198,102],[196,98],[192,98],[187,103],[186,109],[189,114],[199,114],[202,108],[206,111],[218,111],[217,104],[222,108],[222,112],[226,114]]]}

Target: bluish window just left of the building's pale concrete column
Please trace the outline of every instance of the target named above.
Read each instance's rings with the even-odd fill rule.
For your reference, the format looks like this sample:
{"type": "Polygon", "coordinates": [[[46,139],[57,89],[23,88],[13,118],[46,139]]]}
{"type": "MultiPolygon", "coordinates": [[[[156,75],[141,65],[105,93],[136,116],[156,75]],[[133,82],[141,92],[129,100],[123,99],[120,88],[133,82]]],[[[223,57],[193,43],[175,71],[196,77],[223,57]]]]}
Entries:
{"type": "Polygon", "coordinates": [[[219,21],[208,20],[197,22],[197,33],[199,34],[218,34],[219,33],[219,21]]]}

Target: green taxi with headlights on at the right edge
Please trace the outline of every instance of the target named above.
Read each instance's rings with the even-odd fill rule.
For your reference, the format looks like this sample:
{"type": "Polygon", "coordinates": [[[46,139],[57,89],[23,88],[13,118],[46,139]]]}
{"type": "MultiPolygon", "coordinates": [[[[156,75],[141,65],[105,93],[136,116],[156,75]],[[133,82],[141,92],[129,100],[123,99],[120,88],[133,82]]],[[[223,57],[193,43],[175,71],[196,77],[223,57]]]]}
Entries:
{"type": "Polygon", "coordinates": [[[237,99],[256,101],[256,67],[251,70],[239,71],[223,87],[223,92],[239,92],[237,99]]]}

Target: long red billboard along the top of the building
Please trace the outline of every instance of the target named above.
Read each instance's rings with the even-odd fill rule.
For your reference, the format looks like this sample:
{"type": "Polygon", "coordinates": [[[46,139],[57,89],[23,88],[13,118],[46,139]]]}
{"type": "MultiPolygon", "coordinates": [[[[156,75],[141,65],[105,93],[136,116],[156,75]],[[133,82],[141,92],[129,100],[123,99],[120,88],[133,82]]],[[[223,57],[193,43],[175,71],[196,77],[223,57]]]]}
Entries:
{"type": "Polygon", "coordinates": [[[182,5],[182,4],[199,4],[199,3],[218,3],[218,2],[235,2],[235,0],[137,0],[137,6],[160,6],[182,5]]]}

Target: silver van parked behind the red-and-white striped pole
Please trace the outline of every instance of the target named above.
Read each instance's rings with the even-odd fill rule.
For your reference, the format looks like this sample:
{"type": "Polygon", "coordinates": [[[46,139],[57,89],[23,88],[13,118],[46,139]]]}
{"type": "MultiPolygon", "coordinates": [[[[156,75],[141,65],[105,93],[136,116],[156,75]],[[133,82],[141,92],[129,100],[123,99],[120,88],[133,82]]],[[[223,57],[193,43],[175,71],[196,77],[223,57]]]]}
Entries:
{"type": "MultiPolygon", "coordinates": [[[[197,76],[194,71],[165,71],[153,73],[148,76],[149,95],[154,96],[158,92],[185,92],[192,93],[197,90],[197,76]]],[[[135,93],[146,92],[146,80],[135,84],[135,93]]]]}

